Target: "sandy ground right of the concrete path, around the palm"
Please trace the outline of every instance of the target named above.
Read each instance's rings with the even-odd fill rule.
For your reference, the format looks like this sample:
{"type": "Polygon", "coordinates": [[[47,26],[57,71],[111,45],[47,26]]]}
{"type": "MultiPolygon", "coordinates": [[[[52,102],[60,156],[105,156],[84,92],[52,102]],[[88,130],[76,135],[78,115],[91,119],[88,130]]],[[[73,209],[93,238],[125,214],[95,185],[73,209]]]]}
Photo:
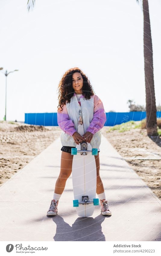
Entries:
{"type": "Polygon", "coordinates": [[[102,134],[161,199],[161,137],[150,138],[146,129],[140,128],[124,132],[108,129],[104,126],[102,134]]]}

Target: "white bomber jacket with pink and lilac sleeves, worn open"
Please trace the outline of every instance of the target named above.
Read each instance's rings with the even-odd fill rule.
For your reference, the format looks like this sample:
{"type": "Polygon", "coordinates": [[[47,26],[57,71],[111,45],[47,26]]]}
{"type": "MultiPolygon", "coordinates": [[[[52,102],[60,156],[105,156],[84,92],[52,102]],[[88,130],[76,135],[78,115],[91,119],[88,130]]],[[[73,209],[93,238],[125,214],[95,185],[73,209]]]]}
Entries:
{"type": "MultiPolygon", "coordinates": [[[[84,125],[84,132],[90,131],[93,134],[93,138],[90,142],[93,148],[99,148],[101,144],[101,131],[106,122],[106,112],[103,107],[102,101],[95,94],[90,96],[89,100],[86,100],[82,95],[81,98],[82,118],[84,125]]],[[[61,134],[62,146],[76,147],[77,144],[74,141],[72,135],[78,131],[78,117],[79,106],[76,94],[71,97],[71,102],[62,107],[59,107],[57,112],[57,121],[59,127],[63,130],[61,134]]],[[[83,134],[81,134],[82,136],[83,134]]]]}

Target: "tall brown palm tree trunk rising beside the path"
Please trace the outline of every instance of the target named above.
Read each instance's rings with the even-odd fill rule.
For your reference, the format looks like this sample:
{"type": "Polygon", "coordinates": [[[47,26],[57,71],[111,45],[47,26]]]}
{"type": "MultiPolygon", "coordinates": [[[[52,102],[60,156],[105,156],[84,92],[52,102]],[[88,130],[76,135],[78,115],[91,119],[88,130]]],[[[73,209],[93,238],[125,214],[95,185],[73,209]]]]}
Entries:
{"type": "Polygon", "coordinates": [[[146,90],[147,135],[157,135],[156,100],[153,75],[153,48],[150,29],[148,0],[143,0],[144,14],[144,71],[146,90]]]}

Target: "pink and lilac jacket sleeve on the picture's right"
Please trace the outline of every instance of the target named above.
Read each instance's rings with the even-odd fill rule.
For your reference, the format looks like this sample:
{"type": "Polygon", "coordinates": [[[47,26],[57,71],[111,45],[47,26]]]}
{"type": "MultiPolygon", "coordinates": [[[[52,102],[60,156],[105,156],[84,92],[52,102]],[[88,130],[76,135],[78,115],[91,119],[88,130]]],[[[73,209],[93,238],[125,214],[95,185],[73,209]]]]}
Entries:
{"type": "Polygon", "coordinates": [[[95,134],[97,131],[103,128],[106,120],[106,112],[104,110],[103,103],[97,95],[94,95],[94,114],[87,131],[95,134]]]}

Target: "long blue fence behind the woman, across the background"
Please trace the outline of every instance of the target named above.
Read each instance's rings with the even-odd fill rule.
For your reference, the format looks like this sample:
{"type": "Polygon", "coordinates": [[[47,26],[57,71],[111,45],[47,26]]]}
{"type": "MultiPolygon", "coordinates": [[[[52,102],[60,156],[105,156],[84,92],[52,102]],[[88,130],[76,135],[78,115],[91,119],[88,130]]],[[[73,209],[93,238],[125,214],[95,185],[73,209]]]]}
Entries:
{"type": "MultiPolygon", "coordinates": [[[[161,117],[161,111],[156,112],[157,118],[161,117]]],[[[120,125],[129,121],[140,121],[146,118],[146,112],[107,112],[105,126],[120,125]]],[[[25,124],[58,126],[57,113],[25,113],[25,124]]]]}

